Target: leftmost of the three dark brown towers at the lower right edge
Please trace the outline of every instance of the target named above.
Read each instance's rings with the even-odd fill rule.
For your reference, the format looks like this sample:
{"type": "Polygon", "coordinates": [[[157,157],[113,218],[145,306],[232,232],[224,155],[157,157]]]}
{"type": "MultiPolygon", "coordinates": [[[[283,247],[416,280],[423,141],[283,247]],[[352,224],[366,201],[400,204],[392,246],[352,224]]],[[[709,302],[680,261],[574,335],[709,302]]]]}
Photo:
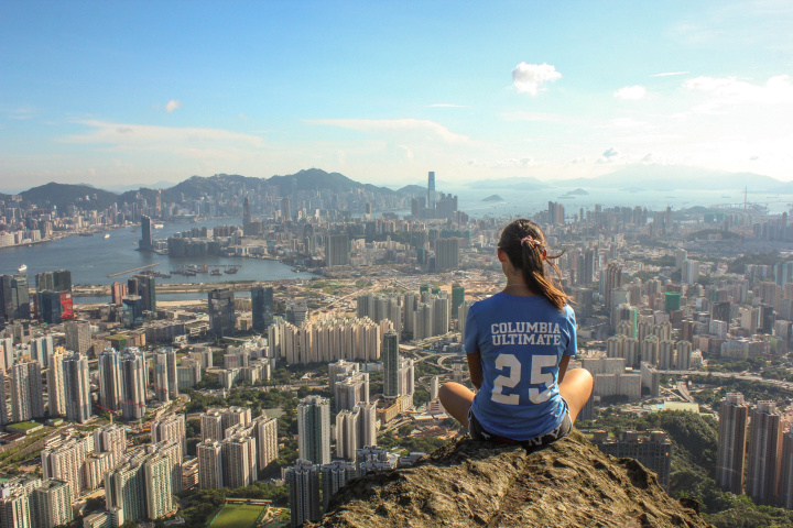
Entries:
{"type": "Polygon", "coordinates": [[[736,495],[743,493],[748,418],[749,405],[743,402],[743,395],[728,393],[719,409],[716,483],[736,495]]]}

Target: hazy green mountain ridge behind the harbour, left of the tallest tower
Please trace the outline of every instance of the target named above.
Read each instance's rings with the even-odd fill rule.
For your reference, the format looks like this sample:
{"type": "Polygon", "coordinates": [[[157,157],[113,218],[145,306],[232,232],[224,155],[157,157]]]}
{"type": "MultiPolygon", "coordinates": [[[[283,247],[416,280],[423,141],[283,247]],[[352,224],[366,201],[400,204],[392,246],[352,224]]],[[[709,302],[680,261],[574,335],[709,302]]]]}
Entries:
{"type": "MultiPolygon", "coordinates": [[[[23,202],[35,204],[36,206],[55,206],[58,210],[66,210],[69,206],[77,206],[83,209],[105,209],[113,202],[134,202],[140,198],[154,200],[157,194],[163,201],[181,201],[182,199],[198,199],[202,196],[219,196],[229,193],[232,188],[245,187],[250,190],[263,190],[265,187],[278,187],[281,195],[290,195],[301,190],[319,190],[345,193],[355,189],[362,189],[369,193],[382,195],[421,195],[426,188],[420,186],[408,186],[399,190],[388,187],[378,187],[371,184],[355,182],[339,173],[326,173],[319,168],[309,168],[285,176],[272,176],[270,178],[251,178],[238,174],[217,174],[215,176],[192,176],[172,187],[153,189],[140,187],[137,190],[127,190],[116,194],[109,190],[99,189],[86,184],[56,184],[48,183],[19,193],[23,202]]],[[[9,201],[11,195],[0,194],[0,200],[9,201]]]]}

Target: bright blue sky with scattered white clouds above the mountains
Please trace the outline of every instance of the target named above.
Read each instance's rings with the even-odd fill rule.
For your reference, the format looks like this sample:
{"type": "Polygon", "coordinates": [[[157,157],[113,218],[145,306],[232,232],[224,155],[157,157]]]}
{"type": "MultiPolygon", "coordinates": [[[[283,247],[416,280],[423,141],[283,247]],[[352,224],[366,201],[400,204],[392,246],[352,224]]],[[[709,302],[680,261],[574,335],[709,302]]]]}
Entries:
{"type": "Polygon", "coordinates": [[[793,180],[793,2],[0,2],[0,188],[793,180]]]}

